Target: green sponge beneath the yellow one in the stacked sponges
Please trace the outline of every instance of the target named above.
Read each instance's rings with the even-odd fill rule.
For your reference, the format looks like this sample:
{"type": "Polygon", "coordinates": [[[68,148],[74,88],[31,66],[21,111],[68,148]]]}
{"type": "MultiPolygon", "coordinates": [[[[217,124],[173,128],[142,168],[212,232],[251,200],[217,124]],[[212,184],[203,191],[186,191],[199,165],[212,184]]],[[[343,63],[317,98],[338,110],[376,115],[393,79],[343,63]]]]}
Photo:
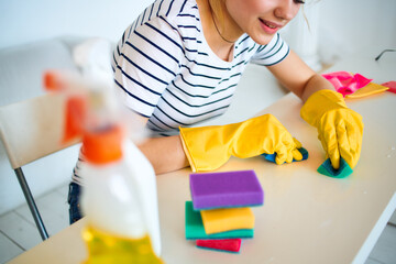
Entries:
{"type": "Polygon", "coordinates": [[[200,211],[195,211],[193,201],[186,201],[186,239],[238,239],[253,238],[254,229],[238,229],[221,233],[207,234],[205,232],[200,211]]]}

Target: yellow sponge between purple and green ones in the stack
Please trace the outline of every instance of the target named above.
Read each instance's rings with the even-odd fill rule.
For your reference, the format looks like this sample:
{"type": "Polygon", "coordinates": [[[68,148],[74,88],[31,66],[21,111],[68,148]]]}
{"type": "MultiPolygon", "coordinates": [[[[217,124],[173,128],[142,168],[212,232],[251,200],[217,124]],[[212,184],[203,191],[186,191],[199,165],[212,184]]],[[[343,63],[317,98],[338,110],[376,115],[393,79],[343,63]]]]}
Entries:
{"type": "Polygon", "coordinates": [[[249,207],[201,210],[200,213],[207,234],[254,228],[254,215],[249,207]]]}

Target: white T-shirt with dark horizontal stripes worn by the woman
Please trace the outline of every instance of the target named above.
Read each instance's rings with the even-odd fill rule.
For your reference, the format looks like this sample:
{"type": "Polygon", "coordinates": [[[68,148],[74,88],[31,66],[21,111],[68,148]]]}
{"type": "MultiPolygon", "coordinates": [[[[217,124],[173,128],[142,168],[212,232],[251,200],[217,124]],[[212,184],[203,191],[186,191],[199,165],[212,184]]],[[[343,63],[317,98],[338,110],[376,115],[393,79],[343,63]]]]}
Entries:
{"type": "MultiPolygon", "coordinates": [[[[248,63],[271,66],[289,53],[274,35],[267,45],[242,35],[233,59],[220,59],[205,40],[195,0],[157,0],[125,30],[113,52],[116,94],[132,111],[148,118],[153,134],[177,134],[229,108],[248,63]]],[[[73,182],[82,184],[79,166],[73,182]]]]}

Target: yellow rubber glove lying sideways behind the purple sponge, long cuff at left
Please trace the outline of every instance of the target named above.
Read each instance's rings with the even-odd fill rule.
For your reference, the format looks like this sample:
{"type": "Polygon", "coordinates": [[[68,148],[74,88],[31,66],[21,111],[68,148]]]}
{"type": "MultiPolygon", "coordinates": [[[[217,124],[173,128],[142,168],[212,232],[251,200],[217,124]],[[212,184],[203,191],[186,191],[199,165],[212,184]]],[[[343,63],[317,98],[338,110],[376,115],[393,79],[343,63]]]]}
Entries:
{"type": "Polygon", "coordinates": [[[296,139],[272,114],[227,125],[180,128],[180,138],[194,172],[212,170],[230,157],[274,154],[276,163],[301,161],[301,147],[296,139]]]}

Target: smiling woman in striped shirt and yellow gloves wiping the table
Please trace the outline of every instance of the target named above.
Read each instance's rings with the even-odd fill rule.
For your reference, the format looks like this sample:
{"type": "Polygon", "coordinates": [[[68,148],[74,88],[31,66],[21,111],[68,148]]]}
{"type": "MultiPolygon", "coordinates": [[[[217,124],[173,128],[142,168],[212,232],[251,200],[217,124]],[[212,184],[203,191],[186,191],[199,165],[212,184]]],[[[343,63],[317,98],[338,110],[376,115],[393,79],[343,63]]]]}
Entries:
{"type": "MultiPolygon", "coordinates": [[[[301,158],[299,142],[271,114],[239,124],[186,129],[227,110],[248,63],[266,66],[301,98],[301,117],[318,128],[334,168],[340,155],[352,167],[356,164],[361,117],[278,34],[301,4],[299,0],[158,0],[125,30],[112,61],[116,92],[154,134],[168,135],[153,136],[139,146],[157,174],[188,165],[210,170],[230,155],[276,152],[277,164],[301,158]]],[[[265,89],[265,84],[257,85],[265,89]]],[[[74,182],[78,180],[77,172],[74,182]]]]}

